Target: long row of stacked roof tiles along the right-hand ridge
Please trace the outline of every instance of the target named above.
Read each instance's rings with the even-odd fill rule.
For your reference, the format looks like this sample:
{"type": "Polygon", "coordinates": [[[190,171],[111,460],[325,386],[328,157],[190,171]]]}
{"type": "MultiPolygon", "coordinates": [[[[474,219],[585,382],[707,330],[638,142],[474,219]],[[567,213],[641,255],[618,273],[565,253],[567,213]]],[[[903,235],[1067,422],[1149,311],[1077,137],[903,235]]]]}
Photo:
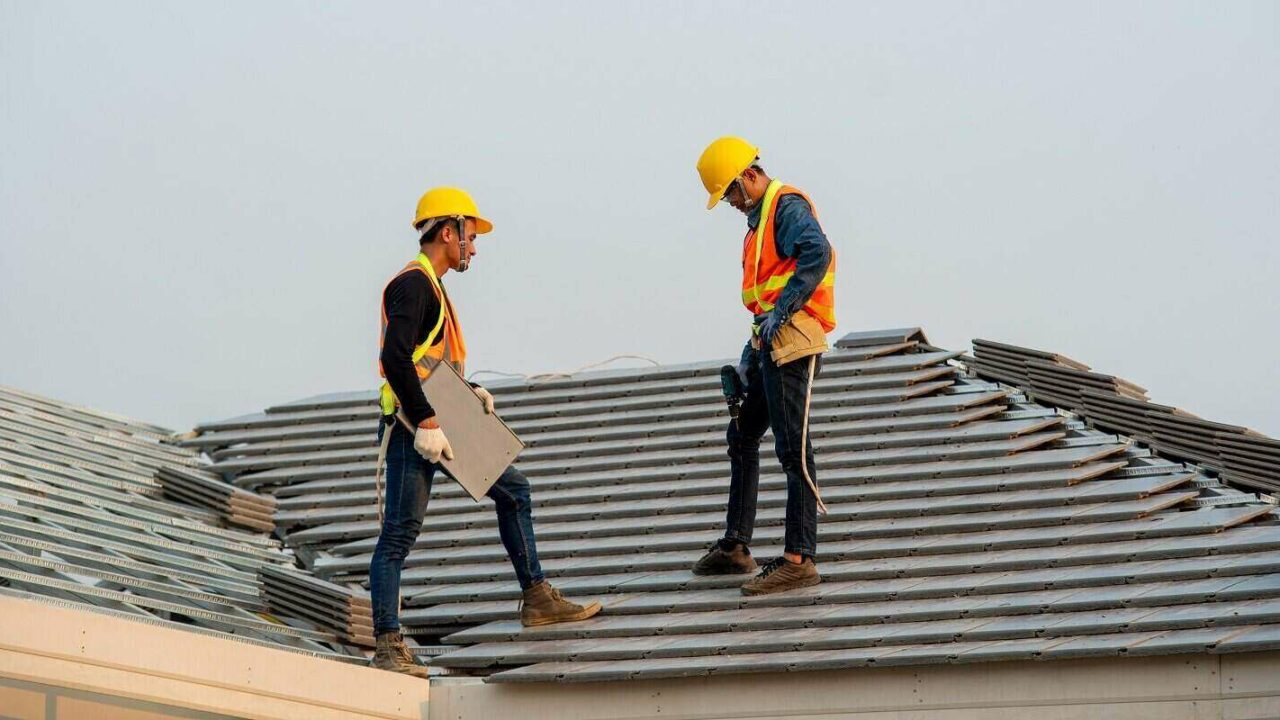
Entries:
{"type": "Polygon", "coordinates": [[[1280,491],[1280,441],[1156,405],[1144,388],[1053,352],[989,340],[973,345],[972,365],[979,375],[1018,386],[1033,398],[1074,410],[1161,454],[1204,465],[1233,483],[1280,491]]]}

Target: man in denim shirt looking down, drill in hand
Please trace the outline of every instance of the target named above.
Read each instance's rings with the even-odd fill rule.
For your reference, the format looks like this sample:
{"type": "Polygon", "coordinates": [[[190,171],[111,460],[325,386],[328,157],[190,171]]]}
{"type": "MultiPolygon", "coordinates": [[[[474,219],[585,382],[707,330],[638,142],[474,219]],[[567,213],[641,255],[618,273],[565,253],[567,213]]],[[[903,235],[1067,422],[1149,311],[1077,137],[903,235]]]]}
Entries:
{"type": "Polygon", "coordinates": [[[723,201],[746,215],[742,304],[753,314],[755,333],[742,348],[737,372],[745,398],[727,433],[731,479],[724,536],[692,570],[698,575],[756,570],[749,544],[755,529],[760,438],[772,428],[787,475],[783,553],[759,568],[742,592],[814,585],[822,580],[814,564],[820,498],[806,413],[817,359],[780,365],[771,348],[797,313],[806,313],[823,332],[835,328],[836,254],[813,204],[800,190],[769,178],[755,146],[736,137],[719,138],[703,152],[698,170],[710,195],[708,209],[723,201]]]}

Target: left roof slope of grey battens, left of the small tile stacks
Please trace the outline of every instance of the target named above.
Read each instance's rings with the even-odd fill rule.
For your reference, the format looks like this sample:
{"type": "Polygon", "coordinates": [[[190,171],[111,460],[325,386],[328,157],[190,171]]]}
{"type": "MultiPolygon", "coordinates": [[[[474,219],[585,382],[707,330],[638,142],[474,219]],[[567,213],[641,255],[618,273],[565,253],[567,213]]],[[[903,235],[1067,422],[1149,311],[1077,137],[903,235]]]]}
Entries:
{"type": "Polygon", "coordinates": [[[202,460],[164,428],[0,388],[0,592],[351,660],[333,633],[271,618],[257,575],[279,541],[166,497],[202,460]]]}

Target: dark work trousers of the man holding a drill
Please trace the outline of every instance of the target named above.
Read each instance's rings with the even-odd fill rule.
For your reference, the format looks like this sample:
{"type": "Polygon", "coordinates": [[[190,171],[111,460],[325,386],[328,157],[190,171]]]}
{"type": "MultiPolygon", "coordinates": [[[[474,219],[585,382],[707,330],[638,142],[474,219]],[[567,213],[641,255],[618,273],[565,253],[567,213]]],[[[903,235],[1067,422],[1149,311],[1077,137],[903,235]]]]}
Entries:
{"type": "MultiPolygon", "coordinates": [[[[822,369],[822,359],[814,377],[822,369]]],[[[813,557],[818,551],[818,500],[800,469],[800,433],[804,427],[805,393],[809,386],[809,359],[794,360],[781,368],[768,350],[748,356],[746,398],[737,420],[728,423],[728,459],[732,470],[728,486],[728,518],[724,537],[751,543],[755,529],[755,500],[760,486],[760,438],[773,429],[773,445],[782,470],[787,474],[787,519],[785,550],[813,557]]],[[[809,477],[818,484],[813,443],[805,442],[809,477]]]]}

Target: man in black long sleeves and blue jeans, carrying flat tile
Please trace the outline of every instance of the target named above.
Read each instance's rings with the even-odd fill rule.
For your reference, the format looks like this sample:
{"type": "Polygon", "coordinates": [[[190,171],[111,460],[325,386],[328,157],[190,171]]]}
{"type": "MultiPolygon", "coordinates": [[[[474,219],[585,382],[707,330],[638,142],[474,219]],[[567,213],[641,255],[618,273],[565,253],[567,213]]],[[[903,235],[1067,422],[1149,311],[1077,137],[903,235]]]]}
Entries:
{"type": "MultiPolygon", "coordinates": [[[[415,428],[383,423],[390,433],[387,445],[387,498],[381,533],[369,568],[378,650],[374,666],[426,676],[413,661],[399,633],[399,582],[404,557],[422,528],[436,464],[453,459],[444,430],[422,392],[421,382],[440,363],[452,363],[462,373],[467,348],[458,316],[440,279],[449,270],[465,272],[475,256],[477,233],[493,224],[481,218],[466,192],[438,187],[417,204],[413,228],[420,233],[420,252],[383,291],[383,333],[379,370],[385,378],[380,392],[383,416],[403,414],[415,428]]],[[[493,413],[493,396],[472,384],[485,411],[493,413]]],[[[529,480],[515,468],[489,489],[498,510],[498,533],[516,569],[524,591],[520,620],[544,625],[585,620],[600,611],[600,603],[582,606],[564,600],[547,582],[538,562],[529,480]]]]}

